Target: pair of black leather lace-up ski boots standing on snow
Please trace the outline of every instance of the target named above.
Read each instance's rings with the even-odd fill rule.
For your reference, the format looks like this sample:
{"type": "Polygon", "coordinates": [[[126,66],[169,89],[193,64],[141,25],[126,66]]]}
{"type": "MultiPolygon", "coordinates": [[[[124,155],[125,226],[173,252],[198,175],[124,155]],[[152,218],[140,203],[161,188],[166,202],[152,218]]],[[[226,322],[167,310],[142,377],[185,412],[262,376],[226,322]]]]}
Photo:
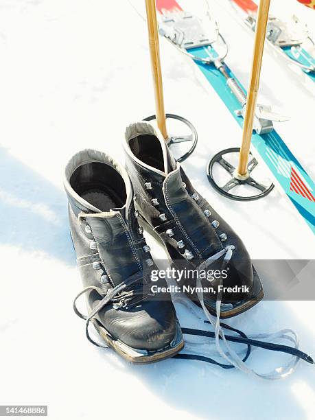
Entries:
{"type": "Polygon", "coordinates": [[[126,360],[149,363],[184,347],[171,299],[152,294],[157,269],[143,228],[163,244],[171,264],[226,275],[182,279],[189,298],[211,315],[229,318],[263,297],[259,278],[239,237],[205,198],[167,148],[161,133],[140,122],[126,130],[126,168],[103,152],[83,150],[65,170],[71,237],[88,315],[86,336],[126,360]],[[131,180],[131,181],[130,181],[131,180]],[[211,283],[211,288],[209,288],[211,283]],[[202,290],[198,292],[196,285],[202,290]],[[188,291],[189,286],[191,290],[188,291]],[[239,292],[229,292],[237,286],[239,292]],[[211,289],[211,290],[210,290],[211,289]],[[106,345],[89,335],[92,322],[106,345]]]}

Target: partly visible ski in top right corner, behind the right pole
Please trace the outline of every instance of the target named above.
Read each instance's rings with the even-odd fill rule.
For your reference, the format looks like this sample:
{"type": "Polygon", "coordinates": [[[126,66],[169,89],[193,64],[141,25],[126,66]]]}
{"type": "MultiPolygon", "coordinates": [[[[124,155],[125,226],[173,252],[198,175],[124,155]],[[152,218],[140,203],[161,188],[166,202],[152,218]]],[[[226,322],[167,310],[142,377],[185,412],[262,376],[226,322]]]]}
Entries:
{"type": "MultiPolygon", "coordinates": [[[[257,4],[253,0],[228,1],[245,25],[255,32],[257,4]]],[[[281,21],[275,16],[269,16],[267,31],[266,39],[269,45],[277,51],[277,54],[281,54],[295,67],[299,67],[315,82],[315,42],[308,34],[307,27],[301,25],[296,16],[292,17],[292,22],[281,21]],[[310,49],[313,50],[313,54],[310,49]]]]}

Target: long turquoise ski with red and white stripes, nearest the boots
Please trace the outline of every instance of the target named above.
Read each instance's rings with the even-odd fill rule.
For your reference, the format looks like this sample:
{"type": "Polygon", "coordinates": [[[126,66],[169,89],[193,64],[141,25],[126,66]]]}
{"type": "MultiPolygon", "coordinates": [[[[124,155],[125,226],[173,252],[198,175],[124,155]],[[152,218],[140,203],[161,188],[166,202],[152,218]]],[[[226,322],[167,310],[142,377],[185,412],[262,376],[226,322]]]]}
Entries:
{"type": "MultiPolygon", "coordinates": [[[[209,40],[200,27],[200,20],[183,10],[176,0],[156,0],[156,8],[161,14],[160,33],[194,60],[242,127],[246,90],[224,62],[227,48],[221,56],[217,52],[215,43],[224,45],[223,36],[218,32],[217,41],[209,40]]],[[[315,233],[315,184],[274,129],[272,120],[285,119],[272,113],[268,106],[257,106],[252,144],[292,205],[315,233]]]]}

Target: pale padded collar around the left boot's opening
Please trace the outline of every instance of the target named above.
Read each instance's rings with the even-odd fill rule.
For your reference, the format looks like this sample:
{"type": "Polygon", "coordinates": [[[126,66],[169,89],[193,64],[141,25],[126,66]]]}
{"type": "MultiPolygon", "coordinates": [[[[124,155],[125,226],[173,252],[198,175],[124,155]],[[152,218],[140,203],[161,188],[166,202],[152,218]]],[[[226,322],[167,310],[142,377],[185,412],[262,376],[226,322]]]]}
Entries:
{"type": "Polygon", "coordinates": [[[77,201],[80,204],[80,207],[84,207],[87,211],[91,211],[91,213],[98,213],[98,215],[101,217],[109,218],[113,217],[115,213],[119,211],[119,213],[121,213],[121,215],[123,215],[124,218],[128,218],[128,209],[132,202],[132,187],[130,179],[124,167],[119,165],[119,163],[117,163],[113,158],[108,156],[108,154],[93,149],[85,149],[81,152],[76,153],[67,163],[63,181],[67,194],[69,194],[75,201],[77,201]],[[91,162],[100,162],[105,163],[106,165],[110,165],[123,178],[126,187],[127,198],[126,204],[123,207],[121,207],[121,209],[110,209],[110,211],[100,211],[100,209],[97,209],[97,207],[94,207],[89,202],[80,197],[71,187],[70,178],[73,175],[73,172],[75,172],[75,170],[78,169],[78,167],[91,162]]]}

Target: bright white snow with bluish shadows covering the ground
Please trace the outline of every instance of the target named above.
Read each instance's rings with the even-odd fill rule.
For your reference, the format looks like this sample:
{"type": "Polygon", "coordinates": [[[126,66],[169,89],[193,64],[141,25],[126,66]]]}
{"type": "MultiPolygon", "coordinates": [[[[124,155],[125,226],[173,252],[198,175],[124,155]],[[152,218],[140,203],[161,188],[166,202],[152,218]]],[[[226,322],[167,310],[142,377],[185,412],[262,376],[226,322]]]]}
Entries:
{"type": "MultiPolygon", "coordinates": [[[[283,11],[281,3],[280,13],[294,12],[314,30],[315,12],[295,0],[283,11]]],[[[228,64],[247,85],[253,38],[218,2],[213,11],[230,45],[228,64]]],[[[161,55],[167,112],[198,130],[196,152],[183,164],[197,189],[253,258],[314,258],[314,236],[281,191],[244,204],[209,187],[210,156],[239,144],[241,131],[189,60],[164,42],[161,55]]],[[[62,189],[65,164],[83,148],[122,162],[126,125],[154,113],[146,27],[128,1],[109,8],[101,0],[0,0],[0,56],[0,404],[47,404],[51,419],[314,418],[310,364],[275,382],[185,360],[132,366],[91,346],[73,313],[81,284],[62,189]]],[[[292,117],[277,130],[314,178],[315,85],[268,48],[261,76],[260,102],[292,117]]],[[[203,327],[197,307],[177,309],[181,325],[203,327]]],[[[248,334],[290,327],[315,356],[314,315],[312,301],[265,301],[229,323],[248,334]]],[[[257,350],[249,364],[266,371],[285,357],[257,350]]]]}

